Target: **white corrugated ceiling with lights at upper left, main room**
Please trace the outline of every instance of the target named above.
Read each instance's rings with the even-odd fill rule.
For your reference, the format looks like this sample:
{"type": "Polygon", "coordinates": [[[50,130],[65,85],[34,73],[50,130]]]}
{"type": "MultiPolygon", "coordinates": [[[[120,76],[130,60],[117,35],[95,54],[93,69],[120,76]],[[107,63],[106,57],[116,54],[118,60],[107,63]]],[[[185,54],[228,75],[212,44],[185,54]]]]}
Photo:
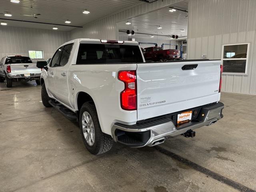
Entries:
{"type": "MultiPolygon", "coordinates": [[[[65,24],[65,20],[70,20],[70,25],[83,26],[100,18],[104,18],[120,10],[124,10],[137,4],[143,4],[139,0],[20,0],[19,4],[10,0],[0,0],[0,21],[1,18],[28,20],[35,22],[47,22],[55,24],[65,24]],[[90,14],[83,14],[87,9],[90,14]],[[10,12],[12,17],[6,17],[4,12],[10,12]],[[23,16],[22,14],[41,14],[38,18],[23,16]]],[[[36,25],[28,22],[9,22],[8,26],[23,26],[35,28],[36,25]]],[[[40,28],[52,29],[54,25],[41,25],[40,28]]],[[[73,27],[58,27],[59,30],[72,30],[73,27]]]]}

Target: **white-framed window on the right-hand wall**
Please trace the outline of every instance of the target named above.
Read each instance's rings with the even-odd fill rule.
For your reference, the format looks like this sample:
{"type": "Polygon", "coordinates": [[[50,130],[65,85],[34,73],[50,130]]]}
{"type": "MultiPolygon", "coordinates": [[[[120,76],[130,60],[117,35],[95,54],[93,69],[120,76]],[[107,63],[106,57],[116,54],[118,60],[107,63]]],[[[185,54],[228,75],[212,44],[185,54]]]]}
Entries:
{"type": "Polygon", "coordinates": [[[247,73],[249,43],[223,45],[222,50],[223,73],[247,73]]]}

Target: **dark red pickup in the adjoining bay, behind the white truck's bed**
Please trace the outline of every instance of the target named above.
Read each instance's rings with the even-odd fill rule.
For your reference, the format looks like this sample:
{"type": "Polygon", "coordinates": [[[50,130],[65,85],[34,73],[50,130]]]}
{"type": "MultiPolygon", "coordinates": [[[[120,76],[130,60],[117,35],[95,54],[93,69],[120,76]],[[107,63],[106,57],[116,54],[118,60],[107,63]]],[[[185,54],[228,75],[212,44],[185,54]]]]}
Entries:
{"type": "Polygon", "coordinates": [[[148,47],[144,48],[143,55],[146,61],[166,61],[173,59],[180,59],[180,50],[166,49],[161,47],[148,47]]]}

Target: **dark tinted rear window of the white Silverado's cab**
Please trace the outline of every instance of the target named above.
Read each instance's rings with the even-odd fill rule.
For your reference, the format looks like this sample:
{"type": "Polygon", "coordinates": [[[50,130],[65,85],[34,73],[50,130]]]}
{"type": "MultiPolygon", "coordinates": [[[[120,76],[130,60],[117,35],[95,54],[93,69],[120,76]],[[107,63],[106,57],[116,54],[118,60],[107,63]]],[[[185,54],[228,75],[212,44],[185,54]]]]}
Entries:
{"type": "Polygon", "coordinates": [[[116,44],[80,44],[76,64],[143,62],[140,47],[116,44]]]}

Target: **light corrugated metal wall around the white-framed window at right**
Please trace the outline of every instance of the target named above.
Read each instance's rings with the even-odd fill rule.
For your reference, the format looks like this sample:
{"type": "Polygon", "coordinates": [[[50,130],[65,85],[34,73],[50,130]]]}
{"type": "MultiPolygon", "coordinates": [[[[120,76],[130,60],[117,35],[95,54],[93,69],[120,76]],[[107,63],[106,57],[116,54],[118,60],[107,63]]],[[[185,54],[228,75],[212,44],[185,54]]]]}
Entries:
{"type": "Polygon", "coordinates": [[[256,0],[189,0],[189,59],[220,59],[222,44],[243,42],[250,42],[248,75],[224,74],[222,90],[256,94],[256,0]]]}

